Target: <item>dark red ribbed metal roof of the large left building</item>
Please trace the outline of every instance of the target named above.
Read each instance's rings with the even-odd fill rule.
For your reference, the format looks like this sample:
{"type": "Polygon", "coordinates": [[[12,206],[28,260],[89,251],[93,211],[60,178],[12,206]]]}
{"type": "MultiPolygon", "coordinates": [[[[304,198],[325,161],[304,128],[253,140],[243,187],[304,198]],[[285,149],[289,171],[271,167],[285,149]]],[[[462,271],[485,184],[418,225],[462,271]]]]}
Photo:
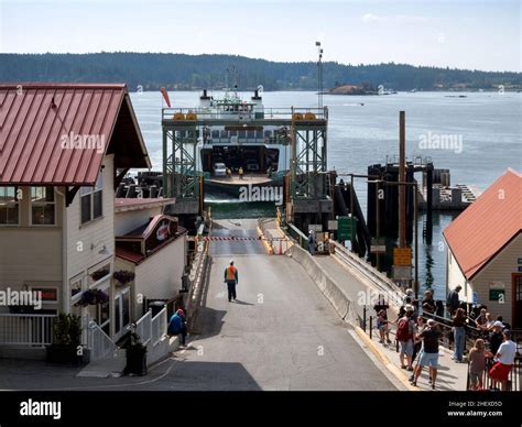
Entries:
{"type": "Polygon", "coordinates": [[[0,185],[94,185],[123,105],[122,132],[141,156],[124,161],[150,167],[126,85],[0,85],[0,185]],[[66,135],[99,136],[105,146],[64,149],[66,135]]]}

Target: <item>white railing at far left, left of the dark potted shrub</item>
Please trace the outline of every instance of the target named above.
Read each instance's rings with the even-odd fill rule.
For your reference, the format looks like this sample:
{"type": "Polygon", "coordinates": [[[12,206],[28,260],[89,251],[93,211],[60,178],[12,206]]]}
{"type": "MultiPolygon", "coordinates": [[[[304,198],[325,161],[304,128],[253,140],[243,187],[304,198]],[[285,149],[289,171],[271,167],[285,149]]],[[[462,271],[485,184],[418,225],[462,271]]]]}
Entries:
{"type": "Polygon", "coordinates": [[[45,347],[56,315],[0,314],[0,346],[45,347]]]}

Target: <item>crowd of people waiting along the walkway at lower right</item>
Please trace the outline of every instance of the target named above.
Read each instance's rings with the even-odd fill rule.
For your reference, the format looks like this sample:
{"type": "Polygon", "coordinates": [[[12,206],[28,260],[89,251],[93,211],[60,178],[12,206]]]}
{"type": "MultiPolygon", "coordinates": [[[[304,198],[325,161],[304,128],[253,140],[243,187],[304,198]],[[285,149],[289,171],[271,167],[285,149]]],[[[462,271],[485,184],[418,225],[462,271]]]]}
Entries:
{"type": "Polygon", "coordinates": [[[377,314],[379,342],[392,343],[390,330],[395,327],[395,340],[399,348],[401,368],[411,372],[410,382],[417,385],[423,368],[428,369],[429,385],[436,387],[439,341],[445,335],[453,342],[452,359],[455,363],[465,362],[466,338],[475,338],[474,347],[467,357],[469,388],[508,390],[509,373],[514,364],[516,344],[511,340],[511,327],[494,316],[487,307],[466,311],[459,300],[460,286],[450,291],[446,299],[446,316],[442,302],[434,299],[432,289],[424,293],[420,302],[413,289],[406,289],[396,320],[388,319],[390,308],[384,297],[379,296],[373,309],[377,314]],[[422,315],[420,314],[422,308],[422,315]],[[474,336],[470,336],[474,333],[474,336]],[[489,382],[482,377],[488,373],[489,382]],[[499,387],[500,384],[500,387],[499,387]]]}

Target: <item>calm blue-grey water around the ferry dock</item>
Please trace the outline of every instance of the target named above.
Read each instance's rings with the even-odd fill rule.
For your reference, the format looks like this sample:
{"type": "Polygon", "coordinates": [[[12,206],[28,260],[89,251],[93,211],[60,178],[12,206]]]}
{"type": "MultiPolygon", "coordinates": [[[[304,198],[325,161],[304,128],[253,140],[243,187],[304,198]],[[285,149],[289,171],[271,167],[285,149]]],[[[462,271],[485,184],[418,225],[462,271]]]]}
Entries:
{"type": "MultiPolygon", "coordinates": [[[[199,101],[197,92],[170,95],[176,107],[196,107],[199,101]]],[[[329,108],[328,167],[339,173],[366,174],[368,165],[383,163],[387,155],[396,154],[399,111],[405,110],[406,155],[431,156],[435,167],[450,169],[453,184],[485,189],[507,167],[522,171],[522,94],[464,95],[467,97],[445,92],[324,96],[324,105],[329,108]],[[456,144],[450,150],[429,150],[421,144],[427,135],[448,136],[456,144]]],[[[250,96],[244,94],[243,98],[250,96]]],[[[162,97],[160,92],[143,92],[131,94],[131,98],[154,168],[161,169],[162,97]]],[[[315,107],[317,97],[314,92],[264,92],[263,102],[272,108],[315,107]]],[[[366,184],[356,180],[356,190],[366,210],[366,184]]],[[[233,214],[240,206],[241,212],[236,217],[257,217],[271,210],[262,204],[249,210],[243,204],[225,201],[216,205],[222,215],[233,214]]],[[[423,287],[433,283],[436,298],[444,298],[445,293],[445,252],[439,250],[441,233],[453,217],[452,214],[436,214],[433,243],[420,245],[420,281],[423,287]]],[[[422,230],[422,216],[420,221],[422,230]]]]}

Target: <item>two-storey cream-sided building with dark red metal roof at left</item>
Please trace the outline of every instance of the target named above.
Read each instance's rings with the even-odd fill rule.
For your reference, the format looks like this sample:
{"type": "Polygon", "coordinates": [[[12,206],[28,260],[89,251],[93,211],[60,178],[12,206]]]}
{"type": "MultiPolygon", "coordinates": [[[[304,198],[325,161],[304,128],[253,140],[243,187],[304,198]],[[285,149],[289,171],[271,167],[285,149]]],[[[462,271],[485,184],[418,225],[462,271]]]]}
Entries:
{"type": "Polygon", "coordinates": [[[0,307],[0,330],[44,350],[45,316],[64,311],[94,320],[97,339],[121,336],[134,314],[112,277],[115,190],[129,168],[151,167],[126,85],[0,85],[0,289],[46,296],[31,317],[45,333],[13,307],[0,307]],[[93,304],[94,292],[107,298],[93,304]]]}

